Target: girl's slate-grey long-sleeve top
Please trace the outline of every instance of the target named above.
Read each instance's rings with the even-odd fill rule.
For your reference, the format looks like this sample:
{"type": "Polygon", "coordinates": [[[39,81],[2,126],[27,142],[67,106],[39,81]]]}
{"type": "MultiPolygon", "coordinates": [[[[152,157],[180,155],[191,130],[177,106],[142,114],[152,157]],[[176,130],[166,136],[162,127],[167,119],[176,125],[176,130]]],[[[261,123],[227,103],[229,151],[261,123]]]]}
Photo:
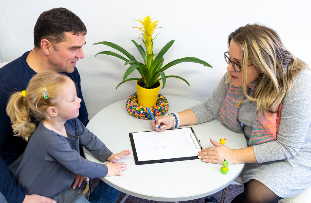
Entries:
{"type": "Polygon", "coordinates": [[[68,137],[44,127],[42,121],[30,137],[23,155],[10,170],[17,181],[27,187],[27,194],[52,198],[57,202],[75,202],[85,188],[69,187],[80,174],[89,178],[104,177],[105,164],[84,159],[79,154],[79,144],[104,162],[112,152],[77,118],[65,123],[68,137]]]}

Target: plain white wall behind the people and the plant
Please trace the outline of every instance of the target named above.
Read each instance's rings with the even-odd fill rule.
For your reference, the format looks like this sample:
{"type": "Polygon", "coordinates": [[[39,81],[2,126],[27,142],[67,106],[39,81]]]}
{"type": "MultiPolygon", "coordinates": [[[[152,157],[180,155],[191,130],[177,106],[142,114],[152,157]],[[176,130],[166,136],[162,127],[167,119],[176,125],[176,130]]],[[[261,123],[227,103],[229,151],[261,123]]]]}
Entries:
{"type": "MultiPolygon", "coordinates": [[[[310,11],[308,0],[262,1],[111,1],[54,0],[0,1],[0,56],[11,61],[33,48],[33,28],[41,12],[54,7],[66,7],[76,13],[87,28],[83,46],[85,58],[77,62],[82,88],[90,118],[102,108],[126,99],[136,91],[135,82],[127,82],[116,90],[126,70],[124,62],[112,56],[95,54],[111,50],[104,45],[110,41],[121,45],[136,58],[138,51],[130,39],[142,44],[140,26],[134,20],[142,16],[155,17],[160,33],[154,41],[154,53],[170,40],[175,43],[164,56],[165,63],[177,58],[197,57],[209,62],[213,69],[200,64],[182,63],[171,67],[166,75],[178,75],[190,83],[168,78],[162,95],[180,95],[204,101],[226,71],[223,53],[230,32],[246,23],[260,22],[275,29],[283,43],[297,57],[311,65],[310,11]]],[[[138,77],[137,72],[131,76],[138,77]]],[[[125,104],[124,104],[125,108],[125,104]]]]}

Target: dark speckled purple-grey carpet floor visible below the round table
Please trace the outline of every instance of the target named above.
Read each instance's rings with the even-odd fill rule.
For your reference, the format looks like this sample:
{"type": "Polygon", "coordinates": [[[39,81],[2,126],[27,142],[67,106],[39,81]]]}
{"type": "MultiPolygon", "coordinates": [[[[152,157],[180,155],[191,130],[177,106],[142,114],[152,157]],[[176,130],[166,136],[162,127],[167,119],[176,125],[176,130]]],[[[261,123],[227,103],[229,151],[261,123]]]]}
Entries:
{"type": "MultiPolygon", "coordinates": [[[[90,179],[91,188],[92,189],[95,188],[99,181],[100,181],[99,178],[90,179]]],[[[229,185],[227,189],[226,197],[225,197],[225,203],[230,203],[231,200],[233,200],[235,196],[243,192],[243,190],[244,190],[244,187],[242,185],[229,185]]],[[[123,197],[123,195],[124,193],[121,192],[120,196],[118,197],[117,202],[123,197]]],[[[212,196],[215,197],[218,202],[220,202],[221,195],[222,195],[222,191],[219,191],[213,194],[212,196]]],[[[204,203],[204,200],[205,200],[205,197],[196,199],[196,200],[181,201],[181,202],[183,203],[204,203]]],[[[145,203],[145,202],[154,203],[155,201],[145,200],[145,199],[141,199],[141,198],[134,197],[134,196],[129,196],[124,203],[145,203]]]]}

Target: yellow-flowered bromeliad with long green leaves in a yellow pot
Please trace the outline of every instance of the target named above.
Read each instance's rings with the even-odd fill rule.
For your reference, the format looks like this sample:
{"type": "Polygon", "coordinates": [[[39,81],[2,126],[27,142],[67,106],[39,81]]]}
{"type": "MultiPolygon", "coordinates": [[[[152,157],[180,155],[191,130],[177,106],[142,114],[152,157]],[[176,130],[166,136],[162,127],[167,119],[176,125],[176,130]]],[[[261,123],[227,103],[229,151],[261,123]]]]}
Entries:
{"type": "Polygon", "coordinates": [[[122,48],[121,46],[111,43],[111,42],[98,42],[95,44],[104,44],[107,45],[109,47],[112,47],[116,50],[118,50],[119,52],[123,53],[125,55],[125,57],[121,56],[118,53],[112,52],[112,51],[102,51],[97,53],[95,56],[97,56],[98,54],[106,54],[106,55],[111,55],[114,57],[118,57],[122,60],[125,61],[124,66],[125,65],[130,65],[128,67],[128,69],[125,71],[124,76],[123,76],[123,81],[120,82],[116,88],[118,88],[118,86],[120,86],[121,84],[127,82],[127,81],[132,81],[132,80],[136,80],[137,81],[137,97],[138,97],[138,103],[141,106],[146,106],[146,107],[152,107],[156,104],[156,99],[158,97],[159,91],[160,91],[160,80],[162,80],[162,88],[164,88],[165,86],[165,82],[166,82],[166,78],[169,77],[175,77],[175,78],[179,78],[183,81],[185,81],[187,83],[187,85],[189,85],[188,81],[186,81],[185,79],[183,79],[182,77],[179,76],[166,76],[164,71],[166,69],[168,69],[169,67],[172,67],[178,63],[181,62],[194,62],[194,63],[200,63],[203,64],[204,66],[207,67],[211,67],[210,64],[208,64],[205,61],[202,61],[198,58],[194,58],[194,57],[185,57],[185,58],[180,58],[180,59],[176,59],[172,62],[167,63],[166,65],[163,66],[164,63],[164,54],[167,52],[167,50],[173,45],[175,40],[171,40],[169,41],[161,50],[158,54],[154,54],[152,49],[153,49],[153,41],[156,38],[152,38],[152,35],[155,31],[155,29],[157,29],[157,22],[159,21],[154,21],[152,22],[153,19],[150,19],[149,16],[144,17],[144,19],[142,20],[136,20],[139,21],[140,23],[142,23],[142,27],[135,27],[139,30],[141,30],[143,33],[141,33],[140,35],[142,35],[143,38],[142,41],[145,44],[146,47],[146,51],[142,48],[141,45],[137,44],[136,41],[131,40],[133,42],[133,44],[137,47],[139,53],[142,56],[143,62],[138,62],[130,53],[128,53],[124,48],[122,48]],[[126,58],[127,57],[127,58],[126,58]],[[134,71],[137,70],[140,74],[141,74],[141,78],[128,78],[127,77],[134,71]],[[150,93],[141,93],[142,89],[149,89],[150,91],[153,91],[155,96],[150,96],[150,93]],[[156,89],[156,90],[154,90],[156,89]],[[148,95],[147,98],[145,98],[145,96],[143,95],[148,95]],[[144,97],[144,98],[143,98],[144,97]],[[149,98],[153,98],[152,102],[146,102],[145,100],[149,100],[149,98]]]}

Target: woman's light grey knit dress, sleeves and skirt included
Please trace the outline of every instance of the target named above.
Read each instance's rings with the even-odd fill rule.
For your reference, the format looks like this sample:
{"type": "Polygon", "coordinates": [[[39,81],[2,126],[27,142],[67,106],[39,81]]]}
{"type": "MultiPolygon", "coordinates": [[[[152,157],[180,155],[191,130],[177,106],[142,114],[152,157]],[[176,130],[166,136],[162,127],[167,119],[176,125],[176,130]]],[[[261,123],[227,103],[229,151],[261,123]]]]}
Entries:
{"type": "MultiPolygon", "coordinates": [[[[227,94],[227,73],[205,102],[190,109],[198,123],[216,118],[227,94]]],[[[311,185],[311,71],[302,70],[292,91],[283,99],[280,126],[274,141],[254,145],[258,163],[246,163],[243,182],[256,179],[280,197],[295,196],[311,185]]],[[[252,91],[248,95],[252,95],[252,91]]],[[[256,118],[256,105],[245,99],[238,114],[249,140],[256,118]]],[[[241,134],[243,136],[243,134],[241,134]]]]}

